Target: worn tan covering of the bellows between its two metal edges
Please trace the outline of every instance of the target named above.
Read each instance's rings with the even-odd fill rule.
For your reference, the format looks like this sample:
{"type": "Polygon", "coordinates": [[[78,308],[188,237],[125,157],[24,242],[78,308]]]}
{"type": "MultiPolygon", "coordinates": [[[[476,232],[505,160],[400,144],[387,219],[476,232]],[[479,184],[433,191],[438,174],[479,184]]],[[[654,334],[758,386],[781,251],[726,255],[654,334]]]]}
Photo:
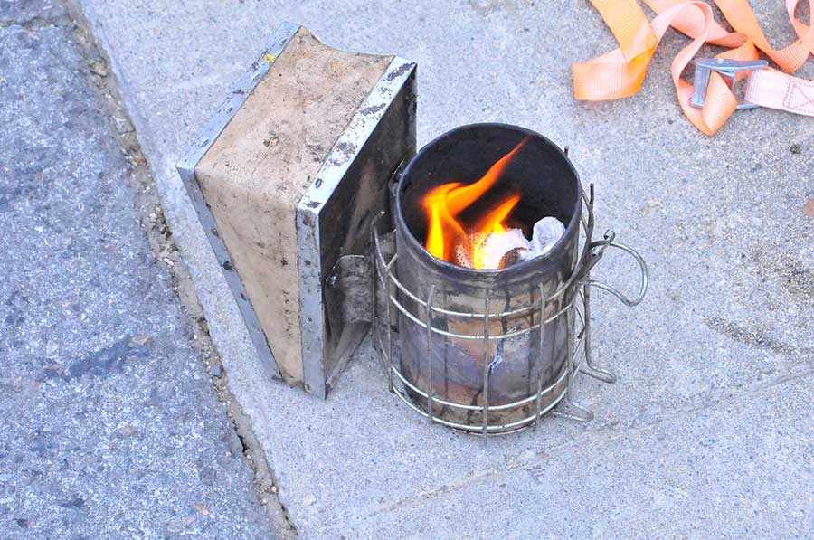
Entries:
{"type": "Polygon", "coordinates": [[[303,380],[297,204],[393,57],[300,28],[195,167],[280,373],[303,380]]]}

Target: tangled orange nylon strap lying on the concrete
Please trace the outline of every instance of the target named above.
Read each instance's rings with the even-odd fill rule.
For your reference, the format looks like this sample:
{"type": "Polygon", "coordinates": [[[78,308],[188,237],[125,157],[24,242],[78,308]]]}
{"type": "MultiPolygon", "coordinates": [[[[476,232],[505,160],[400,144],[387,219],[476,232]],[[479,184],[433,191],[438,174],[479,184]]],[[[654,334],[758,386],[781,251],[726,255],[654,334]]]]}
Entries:
{"type": "MultiPolygon", "coordinates": [[[[729,85],[715,71],[710,73],[703,108],[691,105],[693,86],[681,79],[681,73],[698,49],[707,42],[730,48],[715,58],[756,60],[758,49],[786,71],[796,71],[814,53],[814,24],[807,26],[795,17],[800,0],[786,0],[786,10],[798,40],[783,49],[772,49],[747,0],[715,0],[727,21],[735,29],[727,32],[715,22],[712,9],[701,1],[644,0],[658,16],[648,21],[635,0],[592,0],[602,19],[620,44],[618,49],[588,62],[572,66],[574,97],[582,100],[626,98],[641,87],[650,59],[667,28],[693,38],[673,60],[670,75],[679,104],[689,120],[706,135],[714,135],[737,107],[729,85]]],[[[814,0],[809,0],[814,12],[814,0]]],[[[746,76],[745,73],[739,77],[746,76]]]]}

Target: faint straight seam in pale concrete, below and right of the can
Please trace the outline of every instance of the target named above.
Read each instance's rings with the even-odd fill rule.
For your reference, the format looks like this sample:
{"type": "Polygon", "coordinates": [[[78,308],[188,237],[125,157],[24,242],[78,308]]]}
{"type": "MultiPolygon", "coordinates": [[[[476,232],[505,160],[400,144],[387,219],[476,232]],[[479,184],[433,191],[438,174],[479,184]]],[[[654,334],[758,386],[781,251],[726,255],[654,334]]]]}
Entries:
{"type": "Polygon", "coordinates": [[[753,395],[754,393],[757,392],[763,392],[771,388],[774,388],[775,386],[787,384],[795,380],[805,379],[806,377],[814,375],[814,363],[804,362],[801,365],[804,367],[800,371],[787,372],[785,374],[778,375],[771,379],[762,380],[758,383],[747,386],[742,390],[734,391],[730,389],[718,393],[709,393],[705,396],[706,399],[699,400],[696,403],[687,403],[684,406],[669,409],[666,412],[659,414],[657,418],[649,422],[643,423],[631,422],[629,424],[624,424],[621,427],[618,427],[620,424],[608,424],[601,427],[598,430],[584,431],[582,432],[581,435],[577,435],[576,437],[569,441],[563,441],[562,443],[550,447],[547,450],[541,450],[540,452],[537,453],[538,456],[537,459],[528,459],[523,463],[516,464],[515,467],[512,467],[510,469],[487,471],[477,475],[459,478],[455,482],[445,484],[440,488],[424,491],[420,494],[411,497],[403,497],[396,501],[386,503],[378,507],[374,507],[371,511],[365,513],[363,517],[367,518],[379,516],[381,514],[386,514],[387,512],[391,512],[396,509],[401,509],[403,507],[420,506],[421,504],[424,504],[428,500],[438,497],[446,497],[448,495],[457,493],[463,489],[472,486],[477,486],[478,484],[486,483],[489,480],[497,478],[506,478],[509,475],[515,474],[516,472],[526,472],[530,469],[533,469],[543,464],[545,461],[551,458],[551,455],[554,452],[568,450],[570,448],[573,448],[574,446],[577,446],[578,444],[604,445],[613,441],[619,441],[621,438],[628,436],[630,432],[647,431],[657,427],[659,424],[663,422],[675,419],[681,415],[693,414],[695,412],[704,411],[706,409],[715,407],[715,405],[718,405],[720,403],[737,402],[743,399],[743,397],[745,396],[753,395]],[[596,440],[598,437],[602,435],[606,435],[606,437],[604,439],[596,440]]]}

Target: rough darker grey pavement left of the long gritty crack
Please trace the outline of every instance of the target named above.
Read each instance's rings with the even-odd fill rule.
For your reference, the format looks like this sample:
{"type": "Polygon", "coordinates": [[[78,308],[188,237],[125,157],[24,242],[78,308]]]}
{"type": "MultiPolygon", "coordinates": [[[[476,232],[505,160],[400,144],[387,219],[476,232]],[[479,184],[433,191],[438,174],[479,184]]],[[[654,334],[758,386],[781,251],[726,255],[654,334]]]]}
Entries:
{"type": "Polygon", "coordinates": [[[0,3],[0,126],[0,537],[269,537],[59,4],[0,3]]]}

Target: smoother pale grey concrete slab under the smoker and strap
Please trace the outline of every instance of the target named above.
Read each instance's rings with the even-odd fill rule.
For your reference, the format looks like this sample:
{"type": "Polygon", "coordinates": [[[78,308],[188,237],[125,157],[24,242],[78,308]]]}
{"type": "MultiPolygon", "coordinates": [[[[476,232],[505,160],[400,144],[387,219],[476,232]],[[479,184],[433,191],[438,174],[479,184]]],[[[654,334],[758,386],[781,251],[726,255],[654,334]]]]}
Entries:
{"type": "MultiPolygon", "coordinates": [[[[780,2],[755,3],[790,43],[780,2]]],[[[109,54],[197,279],[232,392],[301,535],[804,536],[814,530],[814,119],[758,109],[716,137],[682,116],[670,32],[641,93],[573,100],[571,62],[610,50],[587,1],[81,0],[109,54]],[[419,63],[419,143],[469,122],[534,128],[597,185],[598,230],[648,259],[639,308],[596,295],[584,424],[484,443],[385,391],[365,346],[325,402],[269,383],[175,161],[282,20],[333,46],[419,63]]],[[[814,61],[801,73],[814,78],[814,61]]],[[[597,274],[633,289],[629,262],[597,274]]]]}

